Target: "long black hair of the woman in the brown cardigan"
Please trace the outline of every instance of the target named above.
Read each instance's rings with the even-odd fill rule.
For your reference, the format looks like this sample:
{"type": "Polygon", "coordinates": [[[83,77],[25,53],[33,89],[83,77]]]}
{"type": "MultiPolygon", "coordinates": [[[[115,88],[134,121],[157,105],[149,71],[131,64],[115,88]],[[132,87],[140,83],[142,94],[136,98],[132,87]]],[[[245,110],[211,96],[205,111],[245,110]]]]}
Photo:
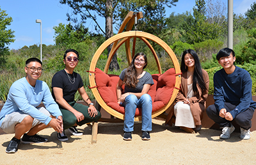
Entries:
{"type": "Polygon", "coordinates": [[[204,92],[205,90],[207,90],[205,82],[204,82],[204,76],[202,73],[202,67],[199,61],[199,57],[196,54],[195,50],[192,49],[188,49],[185,50],[182,54],[182,58],[181,58],[181,65],[180,65],[180,70],[182,73],[185,73],[188,71],[188,67],[185,65],[184,62],[184,57],[186,54],[191,54],[194,57],[195,60],[195,70],[194,70],[194,74],[193,74],[193,91],[195,93],[197,93],[197,88],[196,88],[196,83],[198,83],[199,87],[202,89],[202,92],[204,92]]]}

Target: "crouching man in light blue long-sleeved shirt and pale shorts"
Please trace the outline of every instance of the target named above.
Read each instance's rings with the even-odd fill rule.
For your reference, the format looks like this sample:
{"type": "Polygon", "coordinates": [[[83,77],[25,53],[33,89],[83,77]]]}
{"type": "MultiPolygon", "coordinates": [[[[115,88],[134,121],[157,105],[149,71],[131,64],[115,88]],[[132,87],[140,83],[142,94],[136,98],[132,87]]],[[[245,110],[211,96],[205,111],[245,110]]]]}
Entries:
{"type": "Polygon", "coordinates": [[[44,143],[47,138],[36,134],[42,129],[51,126],[59,133],[63,131],[59,106],[54,102],[47,84],[37,80],[42,75],[42,70],[39,59],[28,59],[26,77],[20,78],[10,87],[6,103],[0,111],[1,129],[5,133],[15,133],[6,153],[17,152],[22,135],[22,143],[44,143]],[[41,102],[46,109],[37,107],[41,102]]]}

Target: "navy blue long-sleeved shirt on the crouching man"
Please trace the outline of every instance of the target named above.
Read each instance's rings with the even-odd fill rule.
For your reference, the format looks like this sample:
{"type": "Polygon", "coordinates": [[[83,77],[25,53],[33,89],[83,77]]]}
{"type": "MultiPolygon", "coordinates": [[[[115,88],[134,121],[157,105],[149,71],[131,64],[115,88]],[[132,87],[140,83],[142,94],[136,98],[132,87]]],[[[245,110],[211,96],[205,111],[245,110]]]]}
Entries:
{"type": "Polygon", "coordinates": [[[230,111],[235,118],[249,107],[256,108],[252,100],[252,79],[248,71],[236,66],[233,73],[227,74],[222,68],[214,74],[214,101],[217,110],[224,107],[224,103],[231,103],[236,108],[230,111]]]}

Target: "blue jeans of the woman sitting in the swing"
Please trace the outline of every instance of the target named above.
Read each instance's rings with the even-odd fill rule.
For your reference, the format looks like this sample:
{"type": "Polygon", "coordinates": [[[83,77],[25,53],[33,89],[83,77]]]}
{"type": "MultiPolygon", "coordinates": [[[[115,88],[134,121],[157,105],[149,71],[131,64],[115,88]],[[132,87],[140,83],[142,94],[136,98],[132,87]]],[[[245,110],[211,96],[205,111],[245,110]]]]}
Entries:
{"type": "Polygon", "coordinates": [[[142,131],[152,131],[152,99],[149,94],[143,94],[138,99],[134,94],[125,97],[124,131],[132,132],[136,108],[141,108],[142,131]]]}

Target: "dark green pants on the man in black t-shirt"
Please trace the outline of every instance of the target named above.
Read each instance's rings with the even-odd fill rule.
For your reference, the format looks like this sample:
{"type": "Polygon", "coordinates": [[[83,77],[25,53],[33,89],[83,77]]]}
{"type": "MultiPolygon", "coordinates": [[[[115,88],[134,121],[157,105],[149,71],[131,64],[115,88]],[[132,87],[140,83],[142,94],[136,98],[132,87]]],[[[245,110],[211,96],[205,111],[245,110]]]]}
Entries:
{"type": "Polygon", "coordinates": [[[101,117],[101,114],[99,111],[98,111],[98,115],[95,115],[95,117],[90,117],[90,115],[88,113],[88,106],[85,106],[83,104],[76,103],[75,101],[69,102],[68,104],[70,104],[70,106],[72,106],[75,110],[83,113],[84,120],[82,120],[81,122],[77,122],[77,118],[74,115],[74,113],[60,107],[61,113],[63,115],[64,129],[68,129],[69,127],[72,127],[75,124],[77,124],[78,126],[83,126],[83,124],[97,121],[101,117]]]}

